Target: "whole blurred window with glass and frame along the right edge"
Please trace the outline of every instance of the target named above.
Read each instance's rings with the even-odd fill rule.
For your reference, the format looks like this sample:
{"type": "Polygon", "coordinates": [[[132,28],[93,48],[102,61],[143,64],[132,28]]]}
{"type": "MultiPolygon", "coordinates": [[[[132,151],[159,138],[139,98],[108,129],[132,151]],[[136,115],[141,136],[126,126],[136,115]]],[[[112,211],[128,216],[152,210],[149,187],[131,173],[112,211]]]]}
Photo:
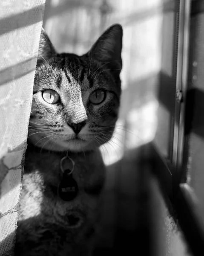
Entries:
{"type": "MultiPolygon", "coordinates": [[[[180,0],[177,4],[172,33],[177,68],[175,76],[174,72],[171,77],[161,74],[159,94],[160,108],[168,113],[170,121],[161,117],[166,123],[158,124],[158,132],[167,124],[172,126],[164,131],[166,140],[155,139],[152,169],[190,250],[200,255],[204,244],[204,9],[202,1],[180,0]]],[[[165,64],[165,54],[163,58],[165,64]]]]}

